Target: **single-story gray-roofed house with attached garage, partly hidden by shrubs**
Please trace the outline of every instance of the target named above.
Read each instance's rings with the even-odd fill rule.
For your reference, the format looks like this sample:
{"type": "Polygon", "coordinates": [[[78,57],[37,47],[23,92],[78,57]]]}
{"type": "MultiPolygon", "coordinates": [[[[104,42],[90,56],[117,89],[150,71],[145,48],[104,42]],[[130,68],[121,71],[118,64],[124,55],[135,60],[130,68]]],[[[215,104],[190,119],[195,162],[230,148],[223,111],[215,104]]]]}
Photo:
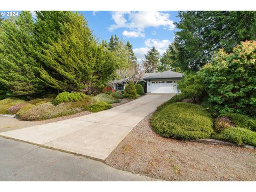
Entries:
{"type": "MultiPolygon", "coordinates": [[[[183,74],[174,71],[164,71],[162,73],[145,73],[141,81],[146,82],[144,87],[147,93],[179,93],[177,82],[181,80],[183,74]]],[[[124,91],[127,79],[111,82],[112,89],[124,91]]]]}

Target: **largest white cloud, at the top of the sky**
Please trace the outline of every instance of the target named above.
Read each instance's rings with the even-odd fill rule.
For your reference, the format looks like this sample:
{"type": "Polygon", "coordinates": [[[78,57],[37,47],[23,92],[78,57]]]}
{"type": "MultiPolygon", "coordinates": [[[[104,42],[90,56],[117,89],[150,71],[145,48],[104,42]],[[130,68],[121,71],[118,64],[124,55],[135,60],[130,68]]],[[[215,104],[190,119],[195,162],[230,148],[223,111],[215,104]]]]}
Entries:
{"type": "Polygon", "coordinates": [[[113,11],[112,19],[115,24],[109,26],[113,31],[118,28],[129,28],[131,30],[143,31],[147,27],[165,26],[169,30],[175,28],[170,14],[160,11],[113,11]]]}

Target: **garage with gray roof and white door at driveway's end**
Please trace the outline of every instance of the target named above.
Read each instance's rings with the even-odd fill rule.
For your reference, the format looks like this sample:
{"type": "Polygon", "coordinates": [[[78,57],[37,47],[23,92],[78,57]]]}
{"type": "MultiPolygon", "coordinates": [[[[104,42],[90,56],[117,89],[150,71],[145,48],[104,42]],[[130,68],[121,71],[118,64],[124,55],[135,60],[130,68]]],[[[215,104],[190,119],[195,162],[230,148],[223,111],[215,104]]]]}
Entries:
{"type": "Polygon", "coordinates": [[[147,82],[147,93],[179,93],[177,82],[183,74],[174,71],[146,73],[143,80],[147,82]]]}

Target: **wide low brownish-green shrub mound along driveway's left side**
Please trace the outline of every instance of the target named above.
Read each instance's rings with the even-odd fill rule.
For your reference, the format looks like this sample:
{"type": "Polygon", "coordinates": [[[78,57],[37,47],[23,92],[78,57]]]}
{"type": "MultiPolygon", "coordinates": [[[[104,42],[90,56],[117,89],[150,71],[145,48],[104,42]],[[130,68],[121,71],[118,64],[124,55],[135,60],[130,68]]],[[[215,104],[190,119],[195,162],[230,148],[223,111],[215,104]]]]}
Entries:
{"type": "Polygon", "coordinates": [[[84,106],[77,106],[78,103],[76,103],[74,106],[74,103],[75,102],[60,103],[57,106],[52,105],[50,102],[43,103],[23,111],[19,117],[21,120],[39,121],[66,115],[73,115],[84,111],[84,106]]]}

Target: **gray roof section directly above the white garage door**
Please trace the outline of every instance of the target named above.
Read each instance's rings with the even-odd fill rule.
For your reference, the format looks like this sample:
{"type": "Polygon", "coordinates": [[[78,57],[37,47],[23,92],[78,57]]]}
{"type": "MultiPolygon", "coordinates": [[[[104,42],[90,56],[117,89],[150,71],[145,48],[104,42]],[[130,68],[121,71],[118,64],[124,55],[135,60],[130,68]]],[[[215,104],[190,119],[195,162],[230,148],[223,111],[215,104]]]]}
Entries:
{"type": "Polygon", "coordinates": [[[145,73],[143,79],[161,79],[161,78],[181,78],[183,74],[174,71],[164,71],[159,73],[145,73]]]}

